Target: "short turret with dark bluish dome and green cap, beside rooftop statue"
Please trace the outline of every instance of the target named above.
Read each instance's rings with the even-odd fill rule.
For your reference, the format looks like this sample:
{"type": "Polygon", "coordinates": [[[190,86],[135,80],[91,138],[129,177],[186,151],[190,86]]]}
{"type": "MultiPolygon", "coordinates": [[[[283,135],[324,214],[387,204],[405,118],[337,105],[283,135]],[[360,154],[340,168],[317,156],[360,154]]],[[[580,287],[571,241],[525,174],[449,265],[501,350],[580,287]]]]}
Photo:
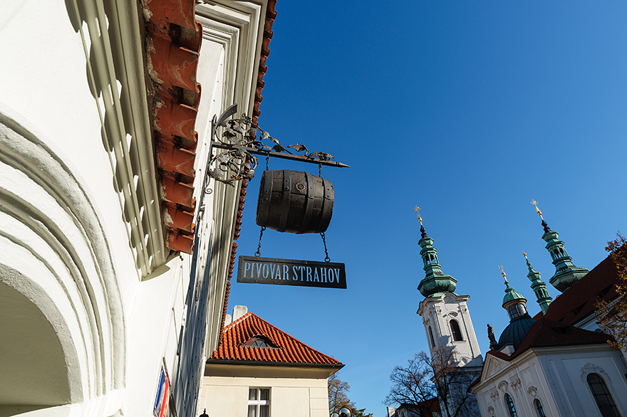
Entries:
{"type": "Polygon", "coordinates": [[[498,348],[501,349],[506,344],[511,344],[514,349],[517,349],[524,338],[527,337],[527,334],[529,334],[529,330],[532,328],[535,320],[527,314],[527,308],[524,305],[527,302],[525,297],[509,286],[503,265],[499,265],[499,268],[501,268],[501,275],[503,275],[505,280],[503,308],[509,315],[509,324],[501,333],[501,337],[499,337],[498,348]]]}

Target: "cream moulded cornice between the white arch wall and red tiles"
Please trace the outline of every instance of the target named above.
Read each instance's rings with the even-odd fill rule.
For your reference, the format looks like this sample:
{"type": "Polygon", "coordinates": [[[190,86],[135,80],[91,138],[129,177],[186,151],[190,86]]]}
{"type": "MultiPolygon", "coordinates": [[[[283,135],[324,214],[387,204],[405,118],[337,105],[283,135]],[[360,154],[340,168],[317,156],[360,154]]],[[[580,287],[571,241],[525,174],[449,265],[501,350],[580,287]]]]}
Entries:
{"type": "Polygon", "coordinates": [[[124,0],[73,0],[71,4],[71,17],[83,39],[88,78],[97,97],[120,209],[125,213],[123,220],[138,270],[145,277],[166,262],[167,251],[139,6],[124,0]]]}

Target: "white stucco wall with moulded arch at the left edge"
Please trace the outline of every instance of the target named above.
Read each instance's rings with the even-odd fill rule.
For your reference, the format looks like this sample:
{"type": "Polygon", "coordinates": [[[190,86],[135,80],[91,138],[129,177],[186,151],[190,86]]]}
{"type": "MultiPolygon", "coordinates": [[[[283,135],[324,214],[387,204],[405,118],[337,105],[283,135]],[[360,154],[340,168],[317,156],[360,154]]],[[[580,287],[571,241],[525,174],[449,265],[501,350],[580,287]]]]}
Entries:
{"type": "MultiPolygon", "coordinates": [[[[71,408],[76,415],[110,416],[121,408],[125,415],[140,416],[152,408],[162,357],[168,358],[170,373],[174,366],[190,261],[188,255],[175,258],[151,280],[140,281],[123,218],[128,208],[120,201],[103,134],[105,115],[98,105],[103,97],[94,93],[89,77],[91,40],[87,34],[83,44],[67,4],[73,2],[8,0],[0,8],[1,121],[9,120],[11,129],[17,126],[28,132],[17,135],[26,136],[25,145],[11,152],[32,159],[24,164],[8,161],[1,169],[3,195],[30,206],[0,213],[1,231],[10,236],[0,241],[2,263],[17,271],[9,276],[4,268],[0,281],[17,288],[59,327],[55,327],[58,340],[49,343],[61,343],[63,366],[73,369],[69,378],[76,379],[70,381],[71,398],[59,396],[60,401],[84,403],[83,408],[71,408]],[[45,232],[36,228],[43,217],[59,228],[48,241],[38,237],[45,232]],[[102,239],[100,246],[96,235],[102,239]],[[110,265],[103,266],[103,259],[110,265]],[[71,270],[74,267],[78,272],[71,270]],[[28,274],[20,275],[24,271],[28,274]],[[108,286],[101,290],[104,281],[108,286]],[[108,328],[111,322],[120,332],[108,328]],[[118,356],[110,349],[117,349],[118,356]]],[[[87,24],[81,23],[85,35],[87,24]]],[[[15,144],[11,129],[2,134],[15,144]]],[[[5,156],[7,152],[4,147],[5,156]]],[[[27,326],[21,329],[28,334],[27,326]]],[[[36,330],[33,325],[32,331],[36,330]]],[[[44,348],[48,343],[38,334],[30,339],[44,348]]],[[[19,344],[6,348],[20,349],[19,344]]],[[[36,398],[36,387],[30,388],[36,398]]],[[[28,398],[4,396],[2,403],[14,400],[19,404],[28,398]]],[[[55,401],[40,401],[33,407],[55,405],[55,401]]],[[[28,410],[12,407],[11,413],[28,410]]]]}

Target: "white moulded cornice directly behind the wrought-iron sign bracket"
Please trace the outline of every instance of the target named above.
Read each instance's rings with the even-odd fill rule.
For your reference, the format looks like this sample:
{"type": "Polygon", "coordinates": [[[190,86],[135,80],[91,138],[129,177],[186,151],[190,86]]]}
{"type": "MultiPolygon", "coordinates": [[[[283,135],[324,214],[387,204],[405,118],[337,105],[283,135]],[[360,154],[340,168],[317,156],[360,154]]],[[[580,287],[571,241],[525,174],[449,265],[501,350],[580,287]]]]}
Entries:
{"type": "MultiPolygon", "coordinates": [[[[210,149],[210,124],[204,118],[211,117],[237,103],[238,113],[252,115],[257,90],[261,44],[264,38],[266,1],[202,1],[196,5],[196,17],[202,23],[203,46],[200,59],[207,51],[205,43],[214,43],[222,51],[222,65],[217,74],[199,71],[198,80],[203,86],[198,110],[197,128],[197,188],[202,189],[207,157],[210,149]],[[212,78],[214,77],[214,78],[212,78]]],[[[210,51],[208,51],[210,52],[210,51]]],[[[210,181],[212,194],[205,195],[205,212],[199,216],[197,231],[201,236],[199,263],[211,260],[211,270],[200,271],[204,279],[210,279],[209,305],[207,306],[207,344],[205,354],[217,348],[224,295],[231,262],[233,238],[239,206],[241,183],[228,186],[210,181]],[[207,253],[208,252],[208,253],[207,253]]]]}

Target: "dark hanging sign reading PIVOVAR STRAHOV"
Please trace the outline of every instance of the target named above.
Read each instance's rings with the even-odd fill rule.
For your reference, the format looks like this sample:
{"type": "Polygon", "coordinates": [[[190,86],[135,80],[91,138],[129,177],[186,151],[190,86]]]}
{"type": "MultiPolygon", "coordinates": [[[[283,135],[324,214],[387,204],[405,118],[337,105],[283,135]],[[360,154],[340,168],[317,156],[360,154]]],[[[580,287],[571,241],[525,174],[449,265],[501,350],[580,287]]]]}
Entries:
{"type": "Polygon", "coordinates": [[[346,288],[343,263],[240,256],[238,283],[346,288]]]}

